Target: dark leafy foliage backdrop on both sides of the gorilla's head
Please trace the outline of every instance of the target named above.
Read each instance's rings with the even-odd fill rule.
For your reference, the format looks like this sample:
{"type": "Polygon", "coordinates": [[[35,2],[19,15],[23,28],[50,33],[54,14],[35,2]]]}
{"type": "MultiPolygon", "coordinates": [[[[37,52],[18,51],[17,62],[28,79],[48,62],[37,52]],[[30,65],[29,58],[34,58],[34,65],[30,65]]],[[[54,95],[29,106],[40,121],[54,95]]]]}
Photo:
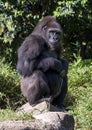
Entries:
{"type": "MultiPolygon", "coordinates": [[[[91,44],[88,46],[92,43],[91,4],[91,0],[0,0],[0,54],[15,64],[19,45],[46,15],[56,16],[63,27],[67,58],[82,51],[83,42],[87,45],[84,54],[89,52],[88,48],[92,48],[91,44]]],[[[91,51],[88,57],[92,57],[90,54],[91,51]]]]}

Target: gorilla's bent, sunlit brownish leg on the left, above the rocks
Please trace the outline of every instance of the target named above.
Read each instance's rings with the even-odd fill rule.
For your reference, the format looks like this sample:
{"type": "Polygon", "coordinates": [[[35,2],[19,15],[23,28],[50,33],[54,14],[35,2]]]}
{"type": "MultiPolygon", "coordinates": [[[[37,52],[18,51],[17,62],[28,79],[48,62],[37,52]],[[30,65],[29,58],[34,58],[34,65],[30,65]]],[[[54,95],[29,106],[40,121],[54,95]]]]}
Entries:
{"type": "Polygon", "coordinates": [[[32,76],[22,79],[21,91],[30,105],[49,97],[50,93],[47,79],[41,71],[35,71],[32,76]]]}

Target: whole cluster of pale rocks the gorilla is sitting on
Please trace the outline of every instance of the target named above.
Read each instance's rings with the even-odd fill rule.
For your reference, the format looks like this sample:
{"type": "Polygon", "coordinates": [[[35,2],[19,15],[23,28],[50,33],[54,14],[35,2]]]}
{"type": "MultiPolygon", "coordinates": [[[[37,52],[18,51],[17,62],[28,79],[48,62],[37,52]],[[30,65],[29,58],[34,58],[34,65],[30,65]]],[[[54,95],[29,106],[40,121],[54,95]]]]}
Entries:
{"type": "Polygon", "coordinates": [[[26,103],[16,112],[21,113],[31,113],[33,120],[0,122],[0,130],[74,130],[73,116],[46,101],[33,107],[26,103]]]}

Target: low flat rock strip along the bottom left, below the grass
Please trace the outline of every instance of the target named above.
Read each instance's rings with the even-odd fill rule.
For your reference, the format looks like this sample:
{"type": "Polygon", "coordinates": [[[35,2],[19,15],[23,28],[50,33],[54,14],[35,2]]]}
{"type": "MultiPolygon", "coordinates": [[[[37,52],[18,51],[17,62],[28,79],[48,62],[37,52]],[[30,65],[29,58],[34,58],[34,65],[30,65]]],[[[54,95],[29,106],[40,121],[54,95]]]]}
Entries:
{"type": "Polygon", "coordinates": [[[4,121],[0,122],[0,130],[51,130],[50,125],[39,121],[4,121]]]}

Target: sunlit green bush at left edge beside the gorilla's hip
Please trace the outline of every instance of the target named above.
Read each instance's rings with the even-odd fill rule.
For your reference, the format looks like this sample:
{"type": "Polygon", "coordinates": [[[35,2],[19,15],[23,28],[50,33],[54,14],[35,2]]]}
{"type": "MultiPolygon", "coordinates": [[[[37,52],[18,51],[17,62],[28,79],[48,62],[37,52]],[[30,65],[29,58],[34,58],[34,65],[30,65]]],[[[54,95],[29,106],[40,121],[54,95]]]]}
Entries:
{"type": "Polygon", "coordinates": [[[0,58],[0,107],[16,107],[21,101],[20,77],[10,64],[0,58]]]}

